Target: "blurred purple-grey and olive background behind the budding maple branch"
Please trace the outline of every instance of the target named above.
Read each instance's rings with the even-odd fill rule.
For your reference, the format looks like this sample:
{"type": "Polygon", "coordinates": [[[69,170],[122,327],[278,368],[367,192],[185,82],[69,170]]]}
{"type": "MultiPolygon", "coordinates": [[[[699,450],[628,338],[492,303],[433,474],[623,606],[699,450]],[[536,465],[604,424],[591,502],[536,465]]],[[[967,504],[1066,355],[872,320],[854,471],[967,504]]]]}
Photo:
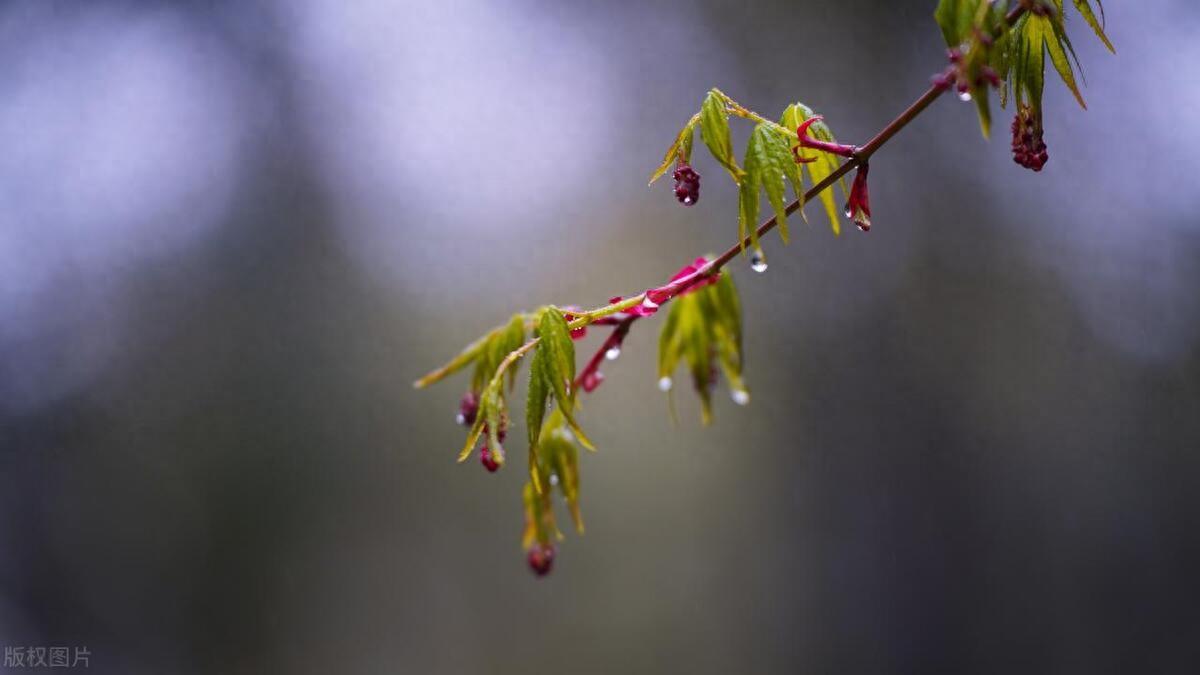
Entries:
{"type": "MultiPolygon", "coordinates": [[[[709,86],[864,141],[935,2],[0,5],[0,643],[101,673],[1195,673],[1200,7],[1079,20],[1042,174],[937,102],[734,263],[746,408],[673,428],[656,322],[538,580],[454,462],[512,311],[727,246],[646,177],[709,86]]],[[[736,144],[746,136],[742,129],[736,144]]],[[[600,331],[580,348],[590,354],[600,331]]],[[[582,358],[582,357],[581,357],[582,358]]],[[[517,437],[523,430],[516,431],[517,437]]]]}

